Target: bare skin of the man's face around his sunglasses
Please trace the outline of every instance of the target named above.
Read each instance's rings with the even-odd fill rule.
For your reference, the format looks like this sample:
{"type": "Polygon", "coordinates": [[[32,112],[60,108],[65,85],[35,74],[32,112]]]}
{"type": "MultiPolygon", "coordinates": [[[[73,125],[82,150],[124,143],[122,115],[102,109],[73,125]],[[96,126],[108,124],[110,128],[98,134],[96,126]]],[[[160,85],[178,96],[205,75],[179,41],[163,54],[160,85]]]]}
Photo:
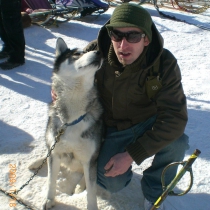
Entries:
{"type": "MultiPolygon", "coordinates": [[[[142,32],[141,29],[135,27],[129,28],[114,28],[113,30],[117,30],[122,33],[127,32],[142,32]]],[[[140,42],[137,43],[129,43],[125,37],[119,42],[113,41],[112,44],[114,47],[115,54],[120,63],[123,65],[128,65],[133,63],[143,52],[144,47],[149,44],[149,40],[147,37],[141,39],[140,42]]]]}

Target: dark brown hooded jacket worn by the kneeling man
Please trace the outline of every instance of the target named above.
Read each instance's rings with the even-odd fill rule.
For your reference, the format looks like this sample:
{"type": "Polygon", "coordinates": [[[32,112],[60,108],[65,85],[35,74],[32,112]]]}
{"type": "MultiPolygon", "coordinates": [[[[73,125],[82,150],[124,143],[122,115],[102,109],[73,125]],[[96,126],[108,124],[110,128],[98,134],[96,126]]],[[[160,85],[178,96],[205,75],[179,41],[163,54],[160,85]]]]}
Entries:
{"type": "Polygon", "coordinates": [[[152,33],[152,42],[142,55],[124,68],[116,58],[105,27],[100,30],[98,40],[86,48],[99,49],[105,58],[102,68],[96,73],[96,81],[107,126],[123,130],[157,116],[152,130],[125,148],[137,164],[179,138],[187,123],[186,97],[177,60],[163,48],[163,39],[154,24],[152,33]],[[145,82],[158,59],[161,59],[162,88],[151,100],[145,82]],[[117,77],[116,71],[122,74],[117,77]]]}

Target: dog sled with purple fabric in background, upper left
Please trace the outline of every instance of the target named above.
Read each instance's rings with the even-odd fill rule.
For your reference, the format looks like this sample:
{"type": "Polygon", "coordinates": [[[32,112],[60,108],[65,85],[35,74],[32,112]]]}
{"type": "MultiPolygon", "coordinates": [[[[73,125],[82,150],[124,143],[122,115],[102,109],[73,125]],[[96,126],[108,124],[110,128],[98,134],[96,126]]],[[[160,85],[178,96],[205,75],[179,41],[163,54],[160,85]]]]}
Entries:
{"type": "Polygon", "coordinates": [[[22,0],[22,12],[26,12],[32,24],[44,27],[67,22],[86,15],[102,14],[109,5],[100,0],[22,0]]]}

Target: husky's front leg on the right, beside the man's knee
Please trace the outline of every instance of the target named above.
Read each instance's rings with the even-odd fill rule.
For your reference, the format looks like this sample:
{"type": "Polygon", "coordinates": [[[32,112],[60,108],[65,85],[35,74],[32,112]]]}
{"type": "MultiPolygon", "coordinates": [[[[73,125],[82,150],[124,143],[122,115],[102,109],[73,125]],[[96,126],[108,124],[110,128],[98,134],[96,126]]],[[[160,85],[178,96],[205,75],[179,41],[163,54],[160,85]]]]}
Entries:
{"type": "Polygon", "coordinates": [[[83,168],[87,189],[87,209],[98,210],[96,198],[96,164],[85,163],[83,168]]]}

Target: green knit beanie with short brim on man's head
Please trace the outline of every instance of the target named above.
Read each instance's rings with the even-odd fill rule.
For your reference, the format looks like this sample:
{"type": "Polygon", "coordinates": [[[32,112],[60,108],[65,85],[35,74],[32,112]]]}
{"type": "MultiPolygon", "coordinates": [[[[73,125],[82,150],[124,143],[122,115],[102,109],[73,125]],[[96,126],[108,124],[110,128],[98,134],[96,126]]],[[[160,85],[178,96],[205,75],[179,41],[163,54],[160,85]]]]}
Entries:
{"type": "Polygon", "coordinates": [[[114,10],[108,30],[112,28],[137,27],[146,33],[149,41],[152,41],[152,18],[143,7],[133,3],[123,3],[114,10]]]}

